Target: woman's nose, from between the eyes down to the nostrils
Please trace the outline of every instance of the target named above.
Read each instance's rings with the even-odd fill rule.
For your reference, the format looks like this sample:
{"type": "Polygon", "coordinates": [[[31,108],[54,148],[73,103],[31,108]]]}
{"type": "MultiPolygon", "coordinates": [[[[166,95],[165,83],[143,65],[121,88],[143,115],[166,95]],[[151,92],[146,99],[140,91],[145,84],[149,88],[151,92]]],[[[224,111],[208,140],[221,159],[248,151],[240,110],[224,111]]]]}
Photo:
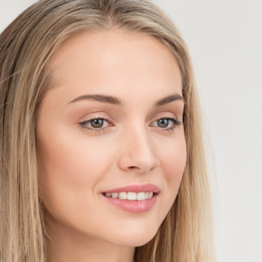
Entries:
{"type": "Polygon", "coordinates": [[[122,170],[139,173],[146,173],[160,165],[145,129],[133,128],[122,136],[118,165],[122,170]]]}

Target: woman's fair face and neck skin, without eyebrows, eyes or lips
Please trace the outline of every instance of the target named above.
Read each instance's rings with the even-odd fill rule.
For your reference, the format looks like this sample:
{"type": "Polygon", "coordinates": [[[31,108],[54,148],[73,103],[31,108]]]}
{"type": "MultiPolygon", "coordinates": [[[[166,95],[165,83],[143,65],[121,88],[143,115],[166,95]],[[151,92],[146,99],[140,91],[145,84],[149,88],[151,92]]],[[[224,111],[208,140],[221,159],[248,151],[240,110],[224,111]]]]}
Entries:
{"type": "Polygon", "coordinates": [[[182,96],[178,64],[156,38],[112,29],[71,38],[50,69],[57,83],[37,116],[49,261],[133,261],[135,247],[154,237],[176,199],[186,164],[183,124],[169,119],[182,121],[184,102],[154,106],[182,96]],[[94,94],[122,104],[71,102],[94,94]],[[97,131],[91,117],[109,120],[97,131]],[[142,213],[122,210],[101,193],[147,183],[160,193],[142,213]]]}

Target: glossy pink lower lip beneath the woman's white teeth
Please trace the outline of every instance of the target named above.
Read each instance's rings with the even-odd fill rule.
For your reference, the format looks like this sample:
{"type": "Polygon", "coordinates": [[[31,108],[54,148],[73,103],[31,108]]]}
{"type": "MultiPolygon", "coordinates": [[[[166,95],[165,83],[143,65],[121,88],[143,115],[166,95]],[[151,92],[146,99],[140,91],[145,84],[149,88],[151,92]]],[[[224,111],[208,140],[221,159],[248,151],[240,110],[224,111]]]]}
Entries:
{"type": "Polygon", "coordinates": [[[146,200],[123,200],[108,198],[105,195],[103,197],[111,204],[132,213],[141,213],[152,208],[157,202],[158,194],[154,194],[152,198],[146,200]]]}

